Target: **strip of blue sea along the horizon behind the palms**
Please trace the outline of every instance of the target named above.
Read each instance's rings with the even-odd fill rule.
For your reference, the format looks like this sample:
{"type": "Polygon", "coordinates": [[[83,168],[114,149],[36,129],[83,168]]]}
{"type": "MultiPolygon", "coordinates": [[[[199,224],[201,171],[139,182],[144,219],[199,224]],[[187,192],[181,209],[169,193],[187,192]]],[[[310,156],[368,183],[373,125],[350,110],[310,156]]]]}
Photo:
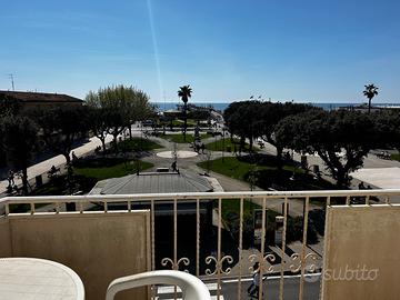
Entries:
{"type": "MultiPolygon", "coordinates": [[[[158,111],[177,109],[177,106],[181,104],[181,102],[152,102],[152,103],[156,104],[158,111]]],[[[190,102],[190,103],[196,104],[198,107],[204,107],[204,108],[212,107],[216,111],[220,111],[220,112],[223,112],[230,104],[230,102],[190,102]]],[[[329,111],[329,110],[338,109],[340,107],[356,107],[356,106],[360,106],[363,103],[360,103],[360,102],[312,103],[312,102],[310,102],[307,104],[314,106],[317,108],[322,108],[323,110],[329,111]]],[[[400,107],[400,103],[373,103],[373,106],[376,106],[376,107],[397,107],[398,108],[398,107],[400,107]]]]}

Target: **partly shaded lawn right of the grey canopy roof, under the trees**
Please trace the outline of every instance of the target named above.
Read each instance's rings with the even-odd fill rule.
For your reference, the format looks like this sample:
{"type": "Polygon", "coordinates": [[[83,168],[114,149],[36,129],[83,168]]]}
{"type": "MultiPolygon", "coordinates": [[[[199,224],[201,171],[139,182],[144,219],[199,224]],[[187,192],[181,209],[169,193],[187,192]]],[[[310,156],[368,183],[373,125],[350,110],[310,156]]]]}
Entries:
{"type": "MultiPolygon", "coordinates": [[[[207,169],[207,161],[198,163],[207,169]]],[[[229,157],[212,160],[210,170],[234,178],[238,180],[253,182],[256,186],[277,190],[327,190],[336,187],[323,180],[314,179],[312,174],[306,173],[298,166],[286,162],[282,170],[277,167],[276,157],[267,154],[254,154],[246,157],[229,157]],[[292,176],[294,172],[294,180],[292,176]]]]}

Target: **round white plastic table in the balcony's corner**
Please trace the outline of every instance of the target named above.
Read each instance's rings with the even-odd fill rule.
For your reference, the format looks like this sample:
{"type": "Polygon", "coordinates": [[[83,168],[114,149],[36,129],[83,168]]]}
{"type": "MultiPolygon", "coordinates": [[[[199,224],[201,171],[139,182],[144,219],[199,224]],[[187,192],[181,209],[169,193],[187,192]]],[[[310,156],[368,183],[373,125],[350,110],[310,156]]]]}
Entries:
{"type": "Polygon", "coordinates": [[[44,259],[0,259],[0,300],[84,300],[82,280],[70,268],[44,259]]]}

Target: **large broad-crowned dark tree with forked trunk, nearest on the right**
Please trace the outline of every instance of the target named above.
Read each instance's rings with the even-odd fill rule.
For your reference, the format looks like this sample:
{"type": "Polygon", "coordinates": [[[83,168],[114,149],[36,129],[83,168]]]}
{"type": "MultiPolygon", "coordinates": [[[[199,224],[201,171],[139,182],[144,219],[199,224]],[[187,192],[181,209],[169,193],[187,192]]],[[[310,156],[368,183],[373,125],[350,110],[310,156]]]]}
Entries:
{"type": "Polygon", "coordinates": [[[372,118],[354,111],[309,111],[290,116],[277,127],[277,141],[299,152],[317,152],[338,187],[363,166],[368,152],[380,144],[372,118]]]}

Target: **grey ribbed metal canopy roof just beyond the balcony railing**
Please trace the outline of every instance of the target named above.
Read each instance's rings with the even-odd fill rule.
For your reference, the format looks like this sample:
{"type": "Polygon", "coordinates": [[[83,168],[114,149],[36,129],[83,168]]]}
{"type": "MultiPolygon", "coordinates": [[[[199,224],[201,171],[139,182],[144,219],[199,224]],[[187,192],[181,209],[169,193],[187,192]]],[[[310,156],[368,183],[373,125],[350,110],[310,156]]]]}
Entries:
{"type": "Polygon", "coordinates": [[[147,172],[99,181],[90,194],[209,192],[212,186],[201,176],[188,172],[147,172]]]}

